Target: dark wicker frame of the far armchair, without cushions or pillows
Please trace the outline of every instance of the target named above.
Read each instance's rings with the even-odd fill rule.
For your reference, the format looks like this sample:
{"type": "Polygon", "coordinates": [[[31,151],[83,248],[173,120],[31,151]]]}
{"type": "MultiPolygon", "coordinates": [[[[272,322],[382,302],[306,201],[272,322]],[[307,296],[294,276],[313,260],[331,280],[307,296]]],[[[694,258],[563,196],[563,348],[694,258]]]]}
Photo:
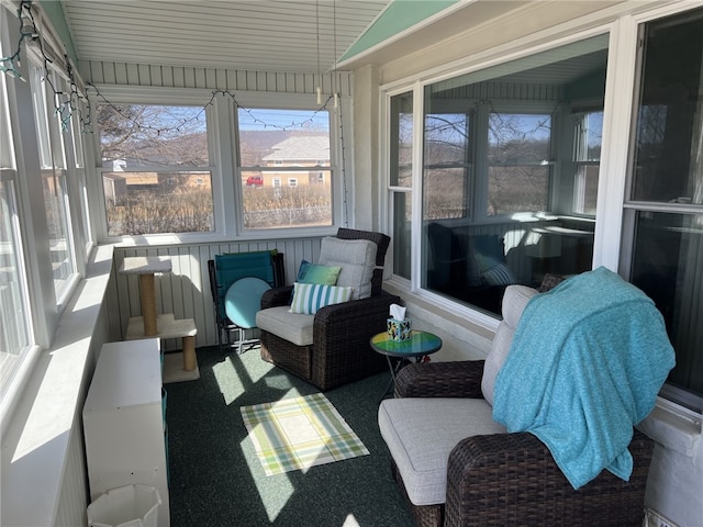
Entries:
{"type": "MultiPolygon", "coordinates": [[[[386,330],[390,304],[400,303],[399,296],[381,290],[383,262],[390,238],[381,233],[349,228],[339,228],[336,237],[368,239],[377,245],[371,295],[327,305],[317,311],[311,344],[297,345],[259,324],[261,358],[323,391],[388,368],[386,357],[370,348],[369,339],[386,330]]],[[[291,290],[291,287],[284,287],[267,291],[261,298],[261,310],[290,304],[291,290]]]]}

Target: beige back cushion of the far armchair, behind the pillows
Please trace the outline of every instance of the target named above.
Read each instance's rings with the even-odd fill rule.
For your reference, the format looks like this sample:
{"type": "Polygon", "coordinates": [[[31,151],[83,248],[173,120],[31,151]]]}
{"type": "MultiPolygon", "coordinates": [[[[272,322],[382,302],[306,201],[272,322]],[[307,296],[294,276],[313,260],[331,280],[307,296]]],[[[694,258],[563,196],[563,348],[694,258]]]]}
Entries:
{"type": "Polygon", "coordinates": [[[352,300],[371,295],[378,246],[369,239],[339,239],[327,236],[320,245],[319,264],[341,267],[336,285],[350,287],[352,300]]]}

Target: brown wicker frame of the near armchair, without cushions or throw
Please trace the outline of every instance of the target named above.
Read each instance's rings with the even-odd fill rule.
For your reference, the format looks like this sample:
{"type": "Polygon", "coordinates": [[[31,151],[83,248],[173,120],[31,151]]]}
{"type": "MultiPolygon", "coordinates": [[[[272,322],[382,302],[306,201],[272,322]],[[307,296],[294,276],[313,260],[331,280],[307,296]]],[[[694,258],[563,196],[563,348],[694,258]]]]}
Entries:
{"type": "MultiPolygon", "coordinates": [[[[395,396],[482,397],[483,365],[483,360],[410,365],[398,374],[395,396]]],[[[449,455],[445,504],[408,503],[416,526],[639,527],[652,448],[654,441],[635,430],[629,481],[604,470],[574,491],[549,449],[532,434],[467,437],[449,455]]],[[[404,491],[394,463],[392,470],[404,491]]]]}

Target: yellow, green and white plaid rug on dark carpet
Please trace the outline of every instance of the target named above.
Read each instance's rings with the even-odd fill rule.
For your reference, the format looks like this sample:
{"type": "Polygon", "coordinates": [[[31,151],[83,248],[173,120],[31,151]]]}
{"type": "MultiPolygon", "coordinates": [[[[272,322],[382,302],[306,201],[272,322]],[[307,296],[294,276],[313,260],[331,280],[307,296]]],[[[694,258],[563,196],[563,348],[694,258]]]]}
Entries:
{"type": "Polygon", "coordinates": [[[322,393],[239,411],[266,475],[369,453],[322,393]]]}

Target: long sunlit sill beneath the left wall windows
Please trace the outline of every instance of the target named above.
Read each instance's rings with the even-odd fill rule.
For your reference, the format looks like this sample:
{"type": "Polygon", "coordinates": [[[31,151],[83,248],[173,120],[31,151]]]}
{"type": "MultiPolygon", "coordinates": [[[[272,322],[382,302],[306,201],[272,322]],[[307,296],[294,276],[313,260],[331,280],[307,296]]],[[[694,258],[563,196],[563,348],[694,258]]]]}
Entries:
{"type": "MultiPolygon", "coordinates": [[[[56,525],[74,441],[82,444],[79,416],[96,348],[102,345],[111,246],[94,250],[62,314],[51,349],[40,352],[2,437],[0,524],[56,525]],[[78,437],[76,435],[79,435],[78,437]]],[[[107,333],[107,332],[105,332],[107,333]]],[[[66,506],[66,505],[64,505],[66,506]]]]}

